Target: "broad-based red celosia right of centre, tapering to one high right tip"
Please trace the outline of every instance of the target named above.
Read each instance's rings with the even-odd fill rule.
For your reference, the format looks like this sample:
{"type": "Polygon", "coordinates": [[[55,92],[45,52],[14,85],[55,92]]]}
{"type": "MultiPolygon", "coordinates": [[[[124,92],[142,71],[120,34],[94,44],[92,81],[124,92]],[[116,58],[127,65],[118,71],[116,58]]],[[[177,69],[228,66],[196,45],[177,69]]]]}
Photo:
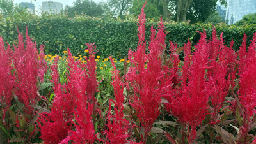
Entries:
{"type": "MultiPolygon", "coordinates": [[[[185,49],[184,68],[182,71],[182,86],[177,88],[175,96],[169,101],[172,114],[179,119],[179,122],[186,125],[189,132],[189,143],[196,138],[196,127],[202,123],[207,114],[207,91],[205,91],[205,70],[207,69],[207,43],[205,31],[201,39],[195,45],[195,52],[191,59],[190,48],[185,49]],[[189,75],[189,78],[188,78],[189,75]]],[[[188,44],[189,46],[189,44],[188,44]]]]}

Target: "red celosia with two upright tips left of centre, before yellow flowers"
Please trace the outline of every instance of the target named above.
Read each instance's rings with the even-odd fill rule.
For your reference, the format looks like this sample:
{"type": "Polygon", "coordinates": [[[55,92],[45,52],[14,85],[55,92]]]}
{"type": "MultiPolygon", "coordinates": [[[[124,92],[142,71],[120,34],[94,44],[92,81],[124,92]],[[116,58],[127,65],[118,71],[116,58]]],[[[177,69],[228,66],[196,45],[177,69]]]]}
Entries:
{"type": "Polygon", "coordinates": [[[73,96],[76,96],[76,108],[74,108],[76,131],[70,130],[68,137],[61,143],[67,143],[70,140],[74,143],[93,143],[97,139],[92,122],[92,113],[96,102],[94,94],[98,85],[95,71],[96,62],[93,57],[96,47],[93,47],[92,44],[86,45],[90,54],[86,64],[74,62],[68,49],[68,66],[70,67],[68,89],[73,96]]]}

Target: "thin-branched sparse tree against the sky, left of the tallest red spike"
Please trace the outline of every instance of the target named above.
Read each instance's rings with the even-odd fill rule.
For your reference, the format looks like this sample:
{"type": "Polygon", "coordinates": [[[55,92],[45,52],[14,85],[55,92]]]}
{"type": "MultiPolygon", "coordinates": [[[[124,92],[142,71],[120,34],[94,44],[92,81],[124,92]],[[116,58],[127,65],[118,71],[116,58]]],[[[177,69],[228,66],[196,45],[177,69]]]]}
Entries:
{"type": "Polygon", "coordinates": [[[132,4],[132,0],[108,0],[109,7],[113,13],[118,13],[118,17],[124,18],[124,11],[127,11],[132,4]]]}

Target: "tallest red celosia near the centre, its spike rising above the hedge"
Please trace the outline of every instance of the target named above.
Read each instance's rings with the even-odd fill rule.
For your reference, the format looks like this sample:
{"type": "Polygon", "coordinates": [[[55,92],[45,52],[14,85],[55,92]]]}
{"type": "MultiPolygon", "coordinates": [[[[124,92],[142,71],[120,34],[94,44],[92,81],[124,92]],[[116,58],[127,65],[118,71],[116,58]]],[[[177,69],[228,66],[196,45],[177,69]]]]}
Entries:
{"type": "MultiPolygon", "coordinates": [[[[145,4],[143,8],[145,7],[145,4]]],[[[138,27],[138,48],[136,52],[129,52],[131,67],[125,75],[125,79],[131,84],[134,95],[131,96],[131,106],[136,110],[136,115],[141,122],[141,127],[145,129],[143,142],[147,141],[152,124],[157,119],[160,112],[161,97],[164,96],[163,90],[171,87],[170,79],[167,78],[167,68],[162,67],[161,57],[163,56],[165,32],[163,21],[159,24],[159,32],[155,38],[155,30],[152,28],[152,35],[148,49],[149,54],[145,54],[145,13],[143,8],[139,15],[138,27]],[[145,68],[145,64],[146,67],[145,68]],[[166,81],[166,82],[165,82],[166,81]]]]}

